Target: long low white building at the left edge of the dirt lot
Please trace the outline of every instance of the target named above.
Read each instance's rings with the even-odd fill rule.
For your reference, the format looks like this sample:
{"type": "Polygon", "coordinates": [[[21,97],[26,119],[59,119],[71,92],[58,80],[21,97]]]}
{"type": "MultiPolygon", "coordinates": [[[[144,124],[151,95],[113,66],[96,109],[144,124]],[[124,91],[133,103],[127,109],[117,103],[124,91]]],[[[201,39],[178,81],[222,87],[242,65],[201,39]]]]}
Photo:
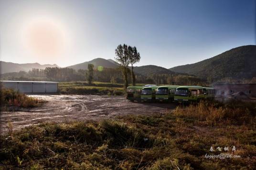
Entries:
{"type": "Polygon", "coordinates": [[[3,88],[19,90],[22,93],[56,93],[58,82],[51,81],[0,81],[3,88]]]}

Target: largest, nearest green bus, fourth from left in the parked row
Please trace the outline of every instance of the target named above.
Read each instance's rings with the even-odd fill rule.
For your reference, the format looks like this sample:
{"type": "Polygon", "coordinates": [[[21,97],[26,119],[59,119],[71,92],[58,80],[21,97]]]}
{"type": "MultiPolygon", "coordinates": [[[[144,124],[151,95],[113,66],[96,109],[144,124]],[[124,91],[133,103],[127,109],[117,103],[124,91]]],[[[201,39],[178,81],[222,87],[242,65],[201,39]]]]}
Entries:
{"type": "Polygon", "coordinates": [[[199,102],[204,99],[202,86],[180,86],[174,94],[174,101],[177,102],[199,102]]]}

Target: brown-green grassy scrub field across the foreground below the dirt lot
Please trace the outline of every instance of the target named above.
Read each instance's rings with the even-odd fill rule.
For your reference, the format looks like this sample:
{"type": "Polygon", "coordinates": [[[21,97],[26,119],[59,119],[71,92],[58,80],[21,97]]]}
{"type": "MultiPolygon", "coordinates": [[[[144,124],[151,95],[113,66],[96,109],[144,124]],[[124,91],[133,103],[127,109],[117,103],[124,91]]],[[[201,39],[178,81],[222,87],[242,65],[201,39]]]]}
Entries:
{"type": "Polygon", "coordinates": [[[43,123],[18,131],[10,124],[0,138],[0,164],[4,169],[253,170],[255,106],[242,105],[200,103],[150,116],[43,123]],[[207,158],[219,154],[236,158],[207,158]]]}

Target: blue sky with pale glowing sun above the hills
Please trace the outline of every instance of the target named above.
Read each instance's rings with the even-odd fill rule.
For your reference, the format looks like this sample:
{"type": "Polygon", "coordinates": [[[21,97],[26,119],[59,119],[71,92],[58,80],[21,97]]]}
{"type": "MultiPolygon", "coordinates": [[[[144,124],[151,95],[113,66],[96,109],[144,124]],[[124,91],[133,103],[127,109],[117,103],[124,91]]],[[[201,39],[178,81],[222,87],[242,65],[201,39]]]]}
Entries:
{"type": "Polygon", "coordinates": [[[0,60],[66,67],[136,46],[171,68],[256,44],[256,0],[0,0],[0,60]]]}

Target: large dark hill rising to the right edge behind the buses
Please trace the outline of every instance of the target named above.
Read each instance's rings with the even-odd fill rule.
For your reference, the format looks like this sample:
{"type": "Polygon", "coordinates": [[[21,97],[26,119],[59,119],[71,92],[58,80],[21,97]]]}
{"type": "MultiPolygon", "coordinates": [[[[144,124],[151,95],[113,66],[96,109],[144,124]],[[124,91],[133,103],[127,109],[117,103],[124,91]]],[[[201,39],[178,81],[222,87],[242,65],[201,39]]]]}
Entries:
{"type": "Polygon", "coordinates": [[[198,77],[252,79],[256,77],[256,45],[237,47],[213,58],[169,69],[198,77]]]}

